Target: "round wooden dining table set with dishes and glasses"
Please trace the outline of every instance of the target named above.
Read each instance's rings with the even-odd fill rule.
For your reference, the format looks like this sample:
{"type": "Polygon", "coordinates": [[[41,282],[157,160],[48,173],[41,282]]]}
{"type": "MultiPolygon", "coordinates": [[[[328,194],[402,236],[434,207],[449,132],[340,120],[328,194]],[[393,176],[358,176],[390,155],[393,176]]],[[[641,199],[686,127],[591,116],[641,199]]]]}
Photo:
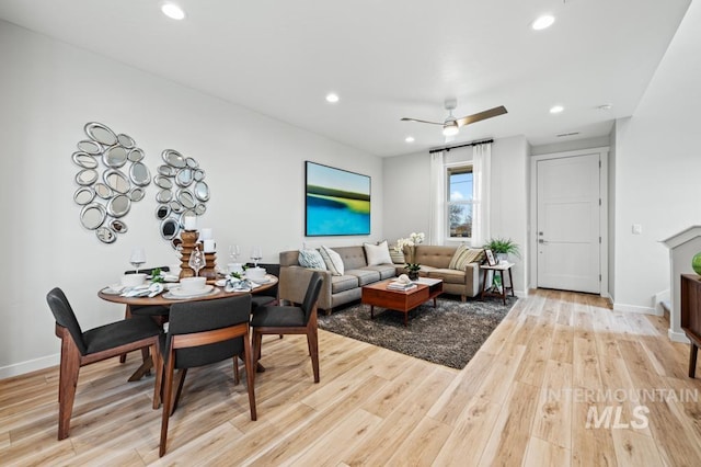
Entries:
{"type": "MultiPolygon", "coordinates": [[[[182,301],[216,300],[218,298],[235,297],[235,296],[245,295],[245,294],[258,294],[261,292],[267,291],[268,288],[275,287],[275,285],[278,282],[278,278],[276,276],[274,276],[273,274],[266,274],[265,278],[267,280],[267,282],[265,284],[260,284],[257,287],[255,287],[255,288],[253,288],[251,291],[227,292],[227,291],[225,291],[225,287],[219,287],[217,285],[214,285],[214,288],[211,289],[210,293],[204,294],[204,295],[197,295],[197,296],[194,296],[194,297],[169,296],[168,292],[163,292],[162,294],[159,294],[159,295],[157,295],[154,297],[123,297],[119,294],[110,294],[110,293],[104,292],[110,287],[101,288],[100,292],[97,292],[97,296],[100,298],[102,298],[103,300],[106,300],[106,301],[112,301],[112,303],[115,303],[115,304],[124,304],[124,305],[126,305],[127,306],[126,317],[128,318],[131,315],[131,310],[130,310],[131,306],[165,306],[165,307],[169,307],[169,306],[171,306],[173,304],[179,304],[179,303],[182,303],[182,301]]],[[[153,318],[157,319],[157,317],[153,317],[153,318]]],[[[165,320],[166,319],[162,319],[161,323],[163,323],[165,320]]],[[[146,353],[143,354],[143,363],[129,377],[129,381],[136,381],[138,379],[141,379],[143,377],[143,375],[147,375],[147,374],[150,373],[152,367],[153,367],[153,361],[151,360],[151,356],[148,355],[148,350],[147,350],[146,353]]],[[[263,368],[260,364],[258,364],[257,369],[258,369],[258,372],[264,372],[265,371],[265,368],[263,368]]]]}

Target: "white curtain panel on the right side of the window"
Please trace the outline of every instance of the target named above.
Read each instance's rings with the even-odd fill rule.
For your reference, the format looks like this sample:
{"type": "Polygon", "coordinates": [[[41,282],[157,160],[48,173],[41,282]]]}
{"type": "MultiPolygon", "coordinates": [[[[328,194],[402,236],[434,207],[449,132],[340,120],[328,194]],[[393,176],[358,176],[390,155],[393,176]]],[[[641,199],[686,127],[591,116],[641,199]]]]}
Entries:
{"type": "Polygon", "coordinates": [[[472,147],[472,180],[475,203],[472,210],[472,247],[482,247],[490,239],[490,168],[492,144],[472,147]]]}

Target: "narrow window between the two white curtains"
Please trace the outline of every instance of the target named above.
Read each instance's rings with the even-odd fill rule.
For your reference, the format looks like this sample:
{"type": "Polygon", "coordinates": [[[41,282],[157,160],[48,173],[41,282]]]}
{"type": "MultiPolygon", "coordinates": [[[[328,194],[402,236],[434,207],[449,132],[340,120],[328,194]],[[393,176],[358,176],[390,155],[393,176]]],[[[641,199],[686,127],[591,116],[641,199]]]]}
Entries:
{"type": "Polygon", "coordinates": [[[448,237],[472,238],[472,215],[474,212],[472,166],[449,167],[447,179],[448,237]]]}

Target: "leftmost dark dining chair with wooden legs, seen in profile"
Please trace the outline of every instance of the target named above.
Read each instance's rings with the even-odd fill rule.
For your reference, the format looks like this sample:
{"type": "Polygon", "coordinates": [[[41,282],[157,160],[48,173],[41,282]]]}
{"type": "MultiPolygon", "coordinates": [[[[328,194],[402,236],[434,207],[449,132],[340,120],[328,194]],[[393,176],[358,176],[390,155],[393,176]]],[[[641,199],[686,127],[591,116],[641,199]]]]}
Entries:
{"type": "MultiPolygon", "coordinates": [[[[151,318],[134,317],[83,332],[64,291],[56,287],[46,295],[54,318],[56,335],[61,339],[61,362],[58,383],[58,438],[68,437],[76,399],[80,367],[131,352],[151,349],[153,363],[162,366],[159,335],[162,329],[151,318]]],[[[160,406],[160,380],[153,390],[153,408],[160,406]]]]}

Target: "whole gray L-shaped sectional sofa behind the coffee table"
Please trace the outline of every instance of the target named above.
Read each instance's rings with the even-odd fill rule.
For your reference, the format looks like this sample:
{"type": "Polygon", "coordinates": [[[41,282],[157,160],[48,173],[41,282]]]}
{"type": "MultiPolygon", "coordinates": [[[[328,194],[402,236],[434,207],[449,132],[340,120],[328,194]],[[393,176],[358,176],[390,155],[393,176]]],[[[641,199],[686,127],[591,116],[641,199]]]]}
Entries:
{"type": "MultiPolygon", "coordinates": [[[[448,267],[457,247],[420,244],[415,247],[414,260],[421,264],[420,275],[441,278],[444,293],[459,295],[464,301],[481,291],[480,264],[470,263],[464,271],[448,267]]],[[[394,277],[405,273],[404,263],[368,266],[363,246],[336,247],[344,264],[345,273],[334,276],[324,271],[324,284],[319,296],[319,308],[331,314],[334,307],[360,299],[364,285],[394,277]]],[[[283,251],[280,258],[279,298],[296,304],[304,299],[307,285],[313,271],[299,265],[299,251],[283,251]]]]}

